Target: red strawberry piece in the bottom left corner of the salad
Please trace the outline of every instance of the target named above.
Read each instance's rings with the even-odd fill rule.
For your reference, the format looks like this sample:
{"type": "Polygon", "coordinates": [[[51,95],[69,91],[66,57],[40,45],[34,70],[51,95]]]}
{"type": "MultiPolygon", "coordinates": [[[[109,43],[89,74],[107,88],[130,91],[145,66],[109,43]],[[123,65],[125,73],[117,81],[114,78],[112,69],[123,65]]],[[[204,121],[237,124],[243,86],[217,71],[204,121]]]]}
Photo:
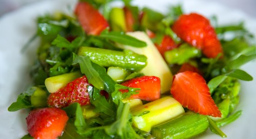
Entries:
{"type": "Polygon", "coordinates": [[[30,111],[27,131],[35,139],[56,139],[61,136],[68,117],[64,110],[45,107],[30,111]]]}

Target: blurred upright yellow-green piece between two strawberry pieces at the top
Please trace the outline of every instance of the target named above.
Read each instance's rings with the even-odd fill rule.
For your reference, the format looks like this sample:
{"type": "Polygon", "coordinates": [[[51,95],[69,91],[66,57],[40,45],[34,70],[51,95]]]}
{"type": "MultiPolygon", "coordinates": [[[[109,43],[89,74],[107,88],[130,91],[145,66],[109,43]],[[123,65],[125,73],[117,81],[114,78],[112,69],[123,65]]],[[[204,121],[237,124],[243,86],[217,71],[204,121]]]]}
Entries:
{"type": "Polygon", "coordinates": [[[114,7],[111,9],[109,22],[112,31],[126,32],[125,16],[122,8],[114,7]]]}

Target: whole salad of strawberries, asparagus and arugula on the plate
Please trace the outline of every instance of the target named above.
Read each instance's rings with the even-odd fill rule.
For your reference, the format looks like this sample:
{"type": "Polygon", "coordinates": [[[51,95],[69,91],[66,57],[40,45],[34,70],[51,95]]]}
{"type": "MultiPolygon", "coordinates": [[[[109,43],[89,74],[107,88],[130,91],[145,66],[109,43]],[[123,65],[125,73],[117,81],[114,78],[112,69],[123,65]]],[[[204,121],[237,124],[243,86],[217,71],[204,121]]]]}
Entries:
{"type": "Polygon", "coordinates": [[[238,69],[256,57],[251,34],[181,6],[124,5],[83,1],[74,16],[38,18],[34,83],[8,108],[32,110],[25,137],[190,138],[208,128],[225,137],[218,127],[242,114],[237,79],[252,80],[238,69]]]}

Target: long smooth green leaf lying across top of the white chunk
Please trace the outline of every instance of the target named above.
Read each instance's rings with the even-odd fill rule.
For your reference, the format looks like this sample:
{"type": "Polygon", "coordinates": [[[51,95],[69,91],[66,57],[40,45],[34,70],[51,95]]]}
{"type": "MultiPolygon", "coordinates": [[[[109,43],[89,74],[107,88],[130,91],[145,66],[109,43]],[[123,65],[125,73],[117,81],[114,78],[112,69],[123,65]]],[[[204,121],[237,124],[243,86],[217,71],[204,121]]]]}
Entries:
{"type": "Polygon", "coordinates": [[[147,44],[134,37],[126,35],[124,32],[101,32],[101,38],[105,38],[116,43],[130,45],[134,47],[145,47],[147,44]]]}

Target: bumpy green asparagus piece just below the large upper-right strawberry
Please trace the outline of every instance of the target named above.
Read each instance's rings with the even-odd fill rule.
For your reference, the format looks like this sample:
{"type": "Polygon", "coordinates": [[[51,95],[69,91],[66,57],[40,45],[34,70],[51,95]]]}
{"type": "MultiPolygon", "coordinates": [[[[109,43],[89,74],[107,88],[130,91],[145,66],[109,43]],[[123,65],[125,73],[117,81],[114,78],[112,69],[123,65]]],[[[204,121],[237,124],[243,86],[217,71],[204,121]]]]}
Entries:
{"type": "Polygon", "coordinates": [[[179,64],[187,62],[190,58],[200,57],[201,51],[189,44],[182,44],[179,48],[166,51],[164,57],[169,64],[179,64]]]}

